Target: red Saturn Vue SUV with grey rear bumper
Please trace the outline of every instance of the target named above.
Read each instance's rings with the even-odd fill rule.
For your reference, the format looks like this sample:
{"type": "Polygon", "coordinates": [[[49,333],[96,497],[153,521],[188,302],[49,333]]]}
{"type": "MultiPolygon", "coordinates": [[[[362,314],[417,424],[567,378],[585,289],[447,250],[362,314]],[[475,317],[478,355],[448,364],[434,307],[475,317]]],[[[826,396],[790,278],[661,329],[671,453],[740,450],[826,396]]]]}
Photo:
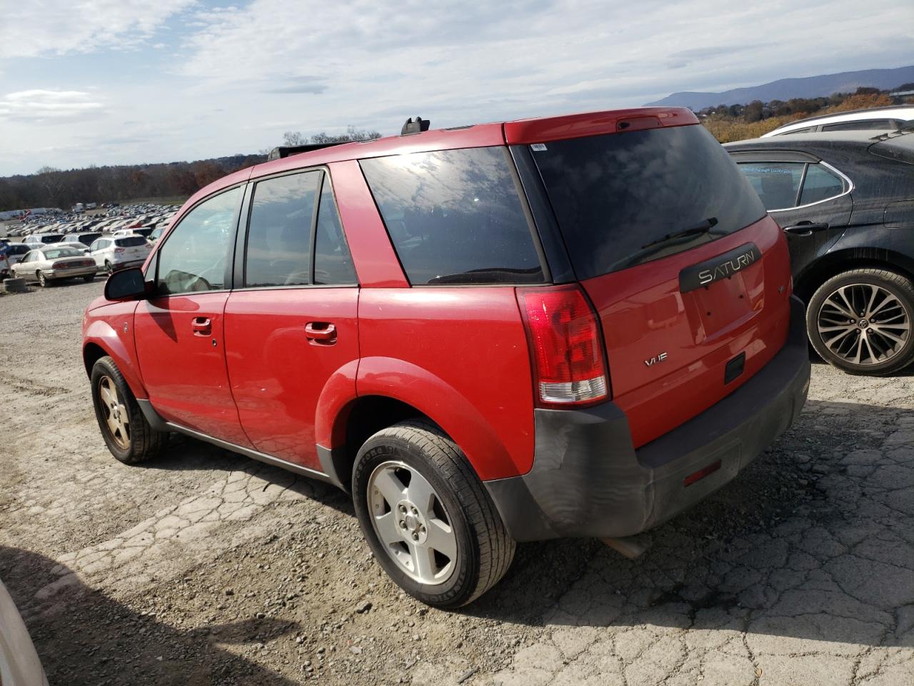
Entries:
{"type": "Polygon", "coordinates": [[[694,114],[420,124],[198,192],[83,359],[122,462],[180,432],[351,490],[394,581],[460,606],[515,541],[706,498],[810,365],[782,232],[694,114]]]}

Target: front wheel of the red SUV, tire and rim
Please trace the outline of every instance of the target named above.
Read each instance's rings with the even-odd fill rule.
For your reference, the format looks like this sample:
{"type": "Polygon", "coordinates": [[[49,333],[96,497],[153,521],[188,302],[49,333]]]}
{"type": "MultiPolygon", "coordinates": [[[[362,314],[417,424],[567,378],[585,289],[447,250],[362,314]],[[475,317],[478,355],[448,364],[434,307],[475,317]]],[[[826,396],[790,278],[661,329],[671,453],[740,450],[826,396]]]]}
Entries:
{"type": "Polygon", "coordinates": [[[159,456],[167,434],[156,431],[146,421],[113,359],[105,356],[95,363],[91,383],[95,418],[111,454],[126,465],[136,465],[159,456]],[[113,401],[117,402],[116,408],[112,407],[113,401]],[[112,411],[114,419],[111,419],[112,411]],[[126,422],[118,421],[124,418],[126,422]],[[113,428],[116,424],[121,424],[119,431],[113,428]]]}

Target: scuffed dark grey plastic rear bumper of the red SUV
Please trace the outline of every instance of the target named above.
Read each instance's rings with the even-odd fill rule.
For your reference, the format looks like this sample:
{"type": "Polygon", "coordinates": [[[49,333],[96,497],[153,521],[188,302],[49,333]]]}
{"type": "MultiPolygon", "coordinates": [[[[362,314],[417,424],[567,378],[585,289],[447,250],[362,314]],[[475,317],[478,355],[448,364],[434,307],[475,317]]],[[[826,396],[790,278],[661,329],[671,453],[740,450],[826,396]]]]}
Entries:
{"type": "Polygon", "coordinates": [[[612,402],[536,410],[533,468],[485,487],[517,541],[646,531],[707,498],[783,434],[806,402],[809,377],[803,305],[793,297],[781,351],[704,413],[635,450],[612,402]],[[685,486],[685,477],[717,462],[685,486]]]}

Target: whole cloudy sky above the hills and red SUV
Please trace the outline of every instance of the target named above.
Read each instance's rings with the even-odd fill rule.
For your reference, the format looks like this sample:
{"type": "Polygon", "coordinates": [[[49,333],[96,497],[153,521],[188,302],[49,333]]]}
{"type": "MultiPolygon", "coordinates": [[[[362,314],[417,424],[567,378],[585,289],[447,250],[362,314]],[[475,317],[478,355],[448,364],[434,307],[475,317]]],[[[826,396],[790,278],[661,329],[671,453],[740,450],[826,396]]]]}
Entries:
{"type": "Polygon", "coordinates": [[[0,0],[0,176],[914,63],[914,3],[0,0]]]}

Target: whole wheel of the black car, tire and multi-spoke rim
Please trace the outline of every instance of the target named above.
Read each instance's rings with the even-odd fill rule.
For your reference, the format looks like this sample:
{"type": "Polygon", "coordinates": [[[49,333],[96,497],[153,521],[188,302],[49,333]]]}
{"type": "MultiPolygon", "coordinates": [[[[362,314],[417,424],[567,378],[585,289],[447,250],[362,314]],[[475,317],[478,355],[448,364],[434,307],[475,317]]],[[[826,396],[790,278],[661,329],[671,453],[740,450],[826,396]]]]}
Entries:
{"type": "Polygon", "coordinates": [[[887,376],[908,367],[914,362],[912,326],[914,284],[885,269],[840,273],[819,286],[806,308],[813,348],[849,374],[887,376]]]}

